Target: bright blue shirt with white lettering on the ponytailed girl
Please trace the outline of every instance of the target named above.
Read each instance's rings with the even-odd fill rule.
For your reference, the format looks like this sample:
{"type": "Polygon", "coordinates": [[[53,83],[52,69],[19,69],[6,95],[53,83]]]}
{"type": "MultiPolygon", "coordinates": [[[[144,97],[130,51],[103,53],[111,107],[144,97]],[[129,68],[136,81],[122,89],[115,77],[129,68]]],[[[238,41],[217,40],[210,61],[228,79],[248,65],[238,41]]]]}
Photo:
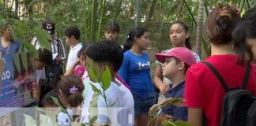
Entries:
{"type": "Polygon", "coordinates": [[[148,54],[143,52],[141,56],[137,56],[127,50],[119,69],[119,76],[128,83],[133,95],[141,98],[154,96],[148,54]]]}

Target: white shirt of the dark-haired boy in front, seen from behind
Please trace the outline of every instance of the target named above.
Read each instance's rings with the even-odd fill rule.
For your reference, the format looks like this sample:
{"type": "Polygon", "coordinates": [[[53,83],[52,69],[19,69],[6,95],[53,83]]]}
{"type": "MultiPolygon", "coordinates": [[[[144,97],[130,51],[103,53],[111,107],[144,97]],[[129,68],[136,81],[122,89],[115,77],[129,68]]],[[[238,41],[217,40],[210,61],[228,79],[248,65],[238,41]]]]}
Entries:
{"type": "MultiPolygon", "coordinates": [[[[119,82],[119,80],[116,80],[119,82]]],[[[119,82],[121,83],[121,82],[119,82]]],[[[100,89],[99,83],[92,83],[100,89]]],[[[88,124],[88,107],[92,102],[94,91],[88,92],[85,102],[83,104],[81,122],[88,124]]],[[[100,89],[102,91],[102,89],[100,89]]],[[[111,82],[111,86],[105,91],[107,95],[107,106],[102,95],[99,96],[97,106],[99,115],[96,122],[100,124],[111,125],[134,125],[134,98],[130,90],[123,84],[118,86],[116,83],[111,82]],[[107,113],[107,111],[109,113],[107,113]],[[103,116],[104,115],[104,116],[103,116]],[[108,120],[108,118],[110,120],[108,120]]]]}

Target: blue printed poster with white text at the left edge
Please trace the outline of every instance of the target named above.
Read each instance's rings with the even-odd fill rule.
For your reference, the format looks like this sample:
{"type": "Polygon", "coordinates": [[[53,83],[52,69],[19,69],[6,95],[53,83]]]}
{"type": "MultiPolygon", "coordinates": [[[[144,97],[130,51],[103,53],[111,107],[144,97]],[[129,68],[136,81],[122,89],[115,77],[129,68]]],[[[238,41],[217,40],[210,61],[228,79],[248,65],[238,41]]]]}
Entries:
{"type": "Polygon", "coordinates": [[[38,88],[32,53],[12,54],[2,57],[5,67],[0,87],[0,117],[13,108],[36,102],[38,88]]]}

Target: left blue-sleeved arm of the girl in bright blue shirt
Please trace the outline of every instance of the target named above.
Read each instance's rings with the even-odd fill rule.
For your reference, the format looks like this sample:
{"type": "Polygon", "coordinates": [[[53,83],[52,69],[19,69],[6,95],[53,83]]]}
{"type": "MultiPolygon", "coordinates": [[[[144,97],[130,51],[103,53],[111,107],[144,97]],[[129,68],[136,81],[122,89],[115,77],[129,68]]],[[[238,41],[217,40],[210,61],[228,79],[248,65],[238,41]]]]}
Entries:
{"type": "Polygon", "coordinates": [[[121,68],[119,69],[119,76],[127,83],[127,76],[129,70],[129,59],[127,55],[124,55],[121,68]]]}

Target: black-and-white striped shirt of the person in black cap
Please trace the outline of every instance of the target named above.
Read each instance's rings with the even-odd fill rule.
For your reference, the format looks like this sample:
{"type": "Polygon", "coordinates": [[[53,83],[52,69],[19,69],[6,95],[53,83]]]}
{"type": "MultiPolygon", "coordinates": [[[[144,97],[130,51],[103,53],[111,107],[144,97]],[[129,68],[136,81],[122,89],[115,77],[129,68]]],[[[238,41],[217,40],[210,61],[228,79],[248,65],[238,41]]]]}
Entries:
{"type": "MultiPolygon", "coordinates": [[[[36,47],[36,50],[42,47],[40,46],[40,43],[38,43],[38,39],[36,37],[32,39],[31,44],[36,47]]],[[[55,39],[51,42],[51,53],[58,53],[58,57],[61,57],[62,63],[66,61],[66,49],[62,43],[62,39],[55,37],[55,39]]]]}

